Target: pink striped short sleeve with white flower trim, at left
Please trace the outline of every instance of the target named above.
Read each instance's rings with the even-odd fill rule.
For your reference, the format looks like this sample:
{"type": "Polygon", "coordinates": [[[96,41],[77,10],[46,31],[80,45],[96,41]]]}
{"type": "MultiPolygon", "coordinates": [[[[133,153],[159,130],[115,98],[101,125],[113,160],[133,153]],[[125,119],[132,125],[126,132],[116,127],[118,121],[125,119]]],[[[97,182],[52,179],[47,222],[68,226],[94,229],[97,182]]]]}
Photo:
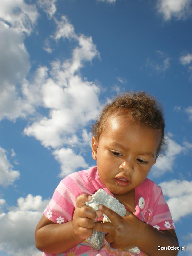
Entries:
{"type": "Polygon", "coordinates": [[[83,171],[65,177],[60,181],[51,201],[44,210],[45,217],[59,224],[72,220],[76,198],[81,194],[92,195],[89,187],[87,174],[83,171]]]}

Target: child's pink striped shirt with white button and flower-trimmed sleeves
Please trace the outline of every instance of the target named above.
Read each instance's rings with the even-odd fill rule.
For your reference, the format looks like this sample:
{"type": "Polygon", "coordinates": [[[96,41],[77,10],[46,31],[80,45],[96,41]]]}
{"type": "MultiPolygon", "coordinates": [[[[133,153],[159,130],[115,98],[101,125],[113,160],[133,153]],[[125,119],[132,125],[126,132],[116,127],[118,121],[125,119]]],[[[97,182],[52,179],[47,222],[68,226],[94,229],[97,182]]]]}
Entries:
{"type": "MultiPolygon", "coordinates": [[[[44,215],[54,223],[62,224],[73,219],[73,212],[76,207],[76,198],[81,194],[92,195],[100,188],[108,194],[114,195],[102,184],[97,167],[89,170],[72,173],[60,181],[55,189],[51,201],[44,211],[44,215]]],[[[138,219],[146,222],[158,230],[174,229],[174,223],[169,211],[169,207],[164,199],[161,187],[153,181],[146,180],[135,188],[135,212],[138,219]]],[[[52,256],[53,254],[43,253],[42,256],[52,256]]],[[[58,256],[67,255],[88,255],[88,256],[106,256],[106,255],[136,255],[122,249],[113,249],[110,244],[104,240],[103,247],[96,251],[84,241],[76,245],[71,250],[58,254],[58,256]],[[71,253],[74,254],[71,254],[71,253]]],[[[140,252],[140,255],[145,255],[140,252]]]]}

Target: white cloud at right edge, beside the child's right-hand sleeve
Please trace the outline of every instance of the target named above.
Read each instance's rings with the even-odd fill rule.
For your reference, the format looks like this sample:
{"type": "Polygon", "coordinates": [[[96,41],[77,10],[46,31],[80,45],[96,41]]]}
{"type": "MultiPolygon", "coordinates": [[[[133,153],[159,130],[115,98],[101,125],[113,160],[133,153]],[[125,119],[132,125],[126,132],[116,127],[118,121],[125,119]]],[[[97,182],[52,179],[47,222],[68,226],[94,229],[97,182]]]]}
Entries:
{"type": "Polygon", "coordinates": [[[188,180],[172,180],[159,184],[163,193],[169,199],[169,205],[172,218],[174,221],[180,220],[188,214],[192,214],[191,198],[192,198],[192,181],[188,180]]]}

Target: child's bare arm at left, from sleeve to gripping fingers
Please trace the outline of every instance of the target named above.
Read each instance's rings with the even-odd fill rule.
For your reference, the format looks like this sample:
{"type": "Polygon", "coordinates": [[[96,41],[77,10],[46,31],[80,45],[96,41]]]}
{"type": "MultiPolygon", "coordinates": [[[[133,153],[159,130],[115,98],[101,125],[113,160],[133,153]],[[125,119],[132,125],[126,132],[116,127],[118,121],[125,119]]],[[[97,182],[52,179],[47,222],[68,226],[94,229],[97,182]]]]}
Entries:
{"type": "Polygon", "coordinates": [[[102,215],[102,212],[94,212],[85,206],[85,201],[91,199],[91,196],[85,194],[77,197],[73,220],[66,223],[55,224],[43,215],[35,230],[36,247],[43,252],[58,254],[91,236],[98,212],[102,215]]]}

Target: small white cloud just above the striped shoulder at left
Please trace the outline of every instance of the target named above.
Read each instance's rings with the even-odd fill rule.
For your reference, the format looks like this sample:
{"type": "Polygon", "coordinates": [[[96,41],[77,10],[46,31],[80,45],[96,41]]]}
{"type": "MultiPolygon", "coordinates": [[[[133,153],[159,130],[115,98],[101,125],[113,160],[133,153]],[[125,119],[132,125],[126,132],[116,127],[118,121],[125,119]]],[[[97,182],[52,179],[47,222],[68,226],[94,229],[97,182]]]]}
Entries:
{"type": "Polygon", "coordinates": [[[61,148],[53,152],[55,159],[61,164],[61,173],[59,177],[67,176],[75,172],[77,168],[88,168],[88,164],[80,155],[76,155],[71,148],[61,148]]]}

